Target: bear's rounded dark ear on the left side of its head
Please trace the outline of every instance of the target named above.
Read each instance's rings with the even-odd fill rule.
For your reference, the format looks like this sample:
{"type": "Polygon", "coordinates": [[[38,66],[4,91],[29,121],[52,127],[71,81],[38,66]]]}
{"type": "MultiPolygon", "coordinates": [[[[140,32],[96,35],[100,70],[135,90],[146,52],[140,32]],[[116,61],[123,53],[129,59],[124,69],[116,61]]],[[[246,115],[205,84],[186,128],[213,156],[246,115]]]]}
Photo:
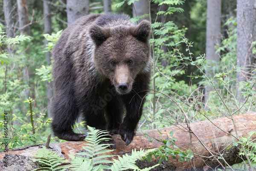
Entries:
{"type": "Polygon", "coordinates": [[[93,39],[96,46],[101,45],[107,38],[110,37],[110,28],[102,28],[97,24],[93,24],[90,27],[90,36],[93,39]]]}

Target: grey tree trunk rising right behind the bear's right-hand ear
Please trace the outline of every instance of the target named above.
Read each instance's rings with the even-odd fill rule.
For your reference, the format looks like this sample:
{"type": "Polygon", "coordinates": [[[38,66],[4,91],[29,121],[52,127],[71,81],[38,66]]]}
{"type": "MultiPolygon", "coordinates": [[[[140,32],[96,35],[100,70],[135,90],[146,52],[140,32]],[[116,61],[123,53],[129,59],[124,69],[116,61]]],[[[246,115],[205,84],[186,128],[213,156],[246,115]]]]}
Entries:
{"type": "MultiPolygon", "coordinates": [[[[132,8],[132,16],[139,17],[144,14],[149,14],[149,1],[148,0],[139,0],[135,1],[132,8]]],[[[140,23],[142,20],[149,20],[149,17],[144,17],[140,19],[138,22],[140,23]]]]}

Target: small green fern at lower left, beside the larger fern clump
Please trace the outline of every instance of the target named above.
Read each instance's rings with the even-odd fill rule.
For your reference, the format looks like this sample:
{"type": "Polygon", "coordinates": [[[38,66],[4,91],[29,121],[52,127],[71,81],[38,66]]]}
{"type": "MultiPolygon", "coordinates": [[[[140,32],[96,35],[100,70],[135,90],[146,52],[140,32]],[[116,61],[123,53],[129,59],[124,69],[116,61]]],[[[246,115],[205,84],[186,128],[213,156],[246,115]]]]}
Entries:
{"type": "Polygon", "coordinates": [[[35,154],[36,159],[31,159],[33,162],[37,162],[39,165],[43,165],[41,168],[33,169],[32,171],[66,171],[67,167],[59,166],[61,163],[67,162],[63,160],[63,157],[59,157],[54,151],[50,151],[45,146],[39,149],[35,154]]]}

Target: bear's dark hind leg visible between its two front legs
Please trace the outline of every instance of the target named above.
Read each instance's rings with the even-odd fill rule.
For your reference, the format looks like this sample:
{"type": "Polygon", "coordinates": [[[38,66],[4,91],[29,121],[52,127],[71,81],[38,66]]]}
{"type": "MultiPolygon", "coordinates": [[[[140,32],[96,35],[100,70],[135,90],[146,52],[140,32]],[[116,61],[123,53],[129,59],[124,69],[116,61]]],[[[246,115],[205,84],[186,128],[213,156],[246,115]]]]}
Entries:
{"type": "Polygon", "coordinates": [[[107,130],[111,134],[118,134],[120,124],[123,119],[123,104],[120,95],[116,95],[105,107],[105,117],[107,120],[107,130]]]}

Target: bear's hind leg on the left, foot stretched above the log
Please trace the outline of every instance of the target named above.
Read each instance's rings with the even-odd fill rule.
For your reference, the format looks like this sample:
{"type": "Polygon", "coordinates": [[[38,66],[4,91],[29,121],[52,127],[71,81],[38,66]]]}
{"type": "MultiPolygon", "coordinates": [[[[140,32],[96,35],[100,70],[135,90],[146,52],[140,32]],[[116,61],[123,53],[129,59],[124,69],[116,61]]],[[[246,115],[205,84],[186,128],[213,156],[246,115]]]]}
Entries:
{"type": "MultiPolygon", "coordinates": [[[[57,94],[57,93],[56,93],[57,94]]],[[[52,130],[59,139],[67,141],[82,141],[86,135],[83,133],[74,133],[72,126],[75,124],[79,116],[79,109],[76,107],[73,93],[65,92],[56,95],[52,99],[52,130]],[[70,94],[70,96],[68,96],[70,94]]]]}

